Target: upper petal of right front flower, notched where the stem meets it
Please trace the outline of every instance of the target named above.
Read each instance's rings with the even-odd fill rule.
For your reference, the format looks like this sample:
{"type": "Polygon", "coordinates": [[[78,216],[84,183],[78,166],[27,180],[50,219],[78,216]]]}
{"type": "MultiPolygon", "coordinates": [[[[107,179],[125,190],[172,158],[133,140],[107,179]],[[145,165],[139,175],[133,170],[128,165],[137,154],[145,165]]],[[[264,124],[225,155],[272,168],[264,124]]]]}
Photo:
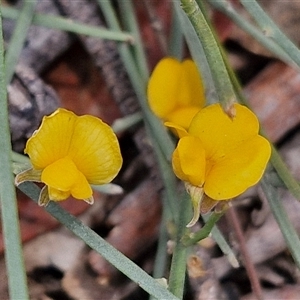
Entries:
{"type": "Polygon", "coordinates": [[[191,122],[189,134],[201,139],[207,158],[217,160],[258,134],[257,117],[245,106],[234,104],[236,116],[230,118],[220,104],[200,110],[191,122]]]}

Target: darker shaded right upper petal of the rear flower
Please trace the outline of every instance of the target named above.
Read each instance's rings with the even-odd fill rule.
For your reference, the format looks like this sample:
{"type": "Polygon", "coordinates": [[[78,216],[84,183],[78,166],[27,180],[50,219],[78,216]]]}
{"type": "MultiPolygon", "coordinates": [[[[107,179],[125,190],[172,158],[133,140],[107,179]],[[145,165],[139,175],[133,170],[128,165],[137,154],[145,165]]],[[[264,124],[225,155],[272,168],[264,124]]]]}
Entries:
{"type": "Polygon", "coordinates": [[[186,59],[181,63],[179,84],[176,106],[196,106],[199,110],[205,105],[202,79],[196,64],[191,59],[186,59]]]}

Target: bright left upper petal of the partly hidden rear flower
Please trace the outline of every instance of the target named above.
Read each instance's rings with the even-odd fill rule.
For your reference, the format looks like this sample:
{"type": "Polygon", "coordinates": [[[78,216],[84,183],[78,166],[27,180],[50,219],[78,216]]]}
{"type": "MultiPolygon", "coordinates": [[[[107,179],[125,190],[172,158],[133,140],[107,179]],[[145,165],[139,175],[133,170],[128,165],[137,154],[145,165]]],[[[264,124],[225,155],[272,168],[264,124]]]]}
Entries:
{"type": "Polygon", "coordinates": [[[181,63],[171,57],[159,61],[147,87],[149,106],[161,119],[175,108],[181,75],[181,63]]]}

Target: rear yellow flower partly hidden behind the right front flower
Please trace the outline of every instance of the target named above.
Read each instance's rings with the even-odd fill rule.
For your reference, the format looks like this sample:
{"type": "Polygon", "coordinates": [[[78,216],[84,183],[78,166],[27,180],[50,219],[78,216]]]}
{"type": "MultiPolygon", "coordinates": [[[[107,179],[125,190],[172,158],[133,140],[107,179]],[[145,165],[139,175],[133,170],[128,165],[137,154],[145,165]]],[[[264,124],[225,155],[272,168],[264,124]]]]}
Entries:
{"type": "Polygon", "coordinates": [[[186,129],[205,104],[202,80],[190,59],[162,59],[149,79],[147,94],[149,106],[159,118],[186,129]]]}

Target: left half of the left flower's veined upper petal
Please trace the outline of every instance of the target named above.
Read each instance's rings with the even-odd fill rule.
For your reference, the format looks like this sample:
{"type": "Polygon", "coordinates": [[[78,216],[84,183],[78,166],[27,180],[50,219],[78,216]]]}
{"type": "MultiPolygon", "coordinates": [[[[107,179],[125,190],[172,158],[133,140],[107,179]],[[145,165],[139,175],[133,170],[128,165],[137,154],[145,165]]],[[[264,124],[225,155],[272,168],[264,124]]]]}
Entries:
{"type": "Polygon", "coordinates": [[[67,155],[76,119],[74,113],[63,108],[43,118],[24,151],[35,169],[44,169],[67,155]]]}

